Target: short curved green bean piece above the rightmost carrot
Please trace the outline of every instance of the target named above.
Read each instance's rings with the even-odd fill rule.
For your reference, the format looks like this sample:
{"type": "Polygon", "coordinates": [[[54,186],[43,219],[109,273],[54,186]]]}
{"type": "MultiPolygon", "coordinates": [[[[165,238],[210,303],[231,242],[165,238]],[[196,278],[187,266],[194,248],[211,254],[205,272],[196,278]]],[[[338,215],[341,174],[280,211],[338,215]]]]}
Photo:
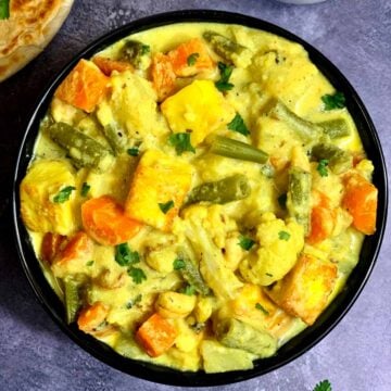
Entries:
{"type": "Polygon", "coordinates": [[[313,147],[311,154],[317,161],[327,160],[329,168],[335,174],[342,174],[353,167],[353,156],[331,143],[317,143],[313,147]]]}

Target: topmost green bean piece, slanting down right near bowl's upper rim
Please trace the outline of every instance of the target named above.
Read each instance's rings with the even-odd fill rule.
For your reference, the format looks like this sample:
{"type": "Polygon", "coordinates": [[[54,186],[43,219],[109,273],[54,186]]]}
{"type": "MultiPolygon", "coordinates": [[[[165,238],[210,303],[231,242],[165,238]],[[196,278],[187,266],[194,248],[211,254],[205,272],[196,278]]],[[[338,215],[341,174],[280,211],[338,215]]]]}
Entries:
{"type": "Polygon", "coordinates": [[[224,60],[234,63],[236,66],[245,67],[250,64],[252,53],[244,46],[234,42],[229,38],[215,31],[209,30],[202,36],[224,60]]]}

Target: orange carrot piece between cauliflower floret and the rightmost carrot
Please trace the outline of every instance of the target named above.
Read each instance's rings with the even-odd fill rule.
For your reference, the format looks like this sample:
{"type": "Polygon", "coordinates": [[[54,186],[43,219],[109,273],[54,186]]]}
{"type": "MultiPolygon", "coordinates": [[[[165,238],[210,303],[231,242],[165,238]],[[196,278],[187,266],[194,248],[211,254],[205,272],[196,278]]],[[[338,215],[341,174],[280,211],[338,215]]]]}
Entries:
{"type": "Polygon", "coordinates": [[[335,227],[336,213],[330,206],[330,200],[324,193],[314,192],[317,202],[311,211],[311,231],[306,241],[311,244],[318,243],[328,238],[335,227]]]}

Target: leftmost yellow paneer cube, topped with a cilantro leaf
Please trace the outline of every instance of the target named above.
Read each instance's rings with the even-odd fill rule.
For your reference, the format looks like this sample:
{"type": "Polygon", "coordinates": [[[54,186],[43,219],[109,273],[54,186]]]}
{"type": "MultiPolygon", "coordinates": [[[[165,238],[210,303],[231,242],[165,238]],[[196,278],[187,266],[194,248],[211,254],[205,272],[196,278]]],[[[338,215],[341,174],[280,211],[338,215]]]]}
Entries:
{"type": "Polygon", "coordinates": [[[34,163],[21,184],[21,214],[27,228],[36,232],[73,232],[76,223],[72,189],[75,184],[67,163],[48,160],[34,163]],[[55,197],[66,188],[68,199],[56,200],[55,197]]]}

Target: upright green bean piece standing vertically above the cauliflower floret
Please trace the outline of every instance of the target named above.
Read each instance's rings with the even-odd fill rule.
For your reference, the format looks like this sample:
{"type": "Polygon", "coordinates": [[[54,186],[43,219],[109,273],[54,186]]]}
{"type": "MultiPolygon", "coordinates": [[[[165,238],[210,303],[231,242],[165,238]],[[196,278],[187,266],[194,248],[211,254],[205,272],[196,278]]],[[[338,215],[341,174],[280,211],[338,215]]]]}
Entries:
{"type": "Polygon", "coordinates": [[[311,174],[300,167],[291,167],[288,173],[287,210],[304,227],[305,235],[310,231],[311,216],[311,174]]]}

